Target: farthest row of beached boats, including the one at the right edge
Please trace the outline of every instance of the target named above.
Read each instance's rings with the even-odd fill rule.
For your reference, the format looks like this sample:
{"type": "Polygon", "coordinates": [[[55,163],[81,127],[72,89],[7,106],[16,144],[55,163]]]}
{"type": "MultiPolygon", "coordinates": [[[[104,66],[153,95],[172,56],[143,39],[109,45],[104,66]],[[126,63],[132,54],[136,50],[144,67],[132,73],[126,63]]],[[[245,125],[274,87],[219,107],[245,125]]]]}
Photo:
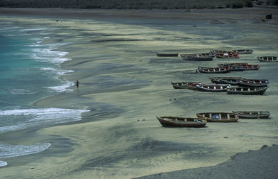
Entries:
{"type": "MultiPolygon", "coordinates": [[[[238,50],[211,50],[208,53],[156,53],[158,57],[177,57],[181,56],[183,60],[190,61],[212,61],[216,58],[239,58],[239,54],[252,54],[254,49],[238,49],[238,50]]],[[[278,62],[277,56],[259,56],[260,62],[278,62]]]]}

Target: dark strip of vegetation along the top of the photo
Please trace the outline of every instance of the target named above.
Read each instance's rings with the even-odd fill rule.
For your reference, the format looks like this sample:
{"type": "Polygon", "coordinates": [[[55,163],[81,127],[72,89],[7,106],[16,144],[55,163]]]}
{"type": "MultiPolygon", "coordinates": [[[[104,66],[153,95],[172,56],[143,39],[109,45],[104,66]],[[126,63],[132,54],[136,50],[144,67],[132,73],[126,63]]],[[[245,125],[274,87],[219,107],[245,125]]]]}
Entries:
{"type": "MultiPolygon", "coordinates": [[[[244,8],[278,0],[0,0],[8,8],[190,9],[244,8]]],[[[266,4],[265,4],[266,5],[266,4]]]]}

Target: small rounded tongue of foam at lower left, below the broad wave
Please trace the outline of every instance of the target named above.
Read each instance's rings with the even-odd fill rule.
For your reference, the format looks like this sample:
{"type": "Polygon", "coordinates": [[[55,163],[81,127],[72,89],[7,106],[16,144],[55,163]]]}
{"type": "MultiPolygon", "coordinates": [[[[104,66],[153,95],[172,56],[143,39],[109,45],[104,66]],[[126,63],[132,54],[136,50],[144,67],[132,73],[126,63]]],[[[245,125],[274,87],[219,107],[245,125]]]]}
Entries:
{"type": "Polygon", "coordinates": [[[33,153],[40,153],[49,148],[49,146],[51,146],[51,144],[49,143],[36,143],[28,146],[0,144],[0,158],[17,157],[22,155],[30,155],[33,153]]]}

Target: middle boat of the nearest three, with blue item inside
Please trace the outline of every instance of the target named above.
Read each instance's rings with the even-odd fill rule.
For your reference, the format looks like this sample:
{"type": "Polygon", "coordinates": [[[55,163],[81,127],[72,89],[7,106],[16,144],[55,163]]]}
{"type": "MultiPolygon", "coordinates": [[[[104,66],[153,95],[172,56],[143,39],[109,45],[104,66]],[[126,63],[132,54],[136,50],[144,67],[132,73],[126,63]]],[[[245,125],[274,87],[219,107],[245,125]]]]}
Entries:
{"type": "Polygon", "coordinates": [[[231,112],[202,112],[197,117],[205,117],[207,122],[236,122],[238,114],[231,112]]]}

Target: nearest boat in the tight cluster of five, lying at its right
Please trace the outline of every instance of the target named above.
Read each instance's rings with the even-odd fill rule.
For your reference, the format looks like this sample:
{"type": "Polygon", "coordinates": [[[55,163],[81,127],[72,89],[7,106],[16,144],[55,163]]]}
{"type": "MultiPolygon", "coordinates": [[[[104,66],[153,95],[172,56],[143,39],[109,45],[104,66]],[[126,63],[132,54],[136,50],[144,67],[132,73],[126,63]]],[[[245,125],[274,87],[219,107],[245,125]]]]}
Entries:
{"type": "Polygon", "coordinates": [[[227,94],[263,95],[268,87],[229,87],[227,94]]]}

